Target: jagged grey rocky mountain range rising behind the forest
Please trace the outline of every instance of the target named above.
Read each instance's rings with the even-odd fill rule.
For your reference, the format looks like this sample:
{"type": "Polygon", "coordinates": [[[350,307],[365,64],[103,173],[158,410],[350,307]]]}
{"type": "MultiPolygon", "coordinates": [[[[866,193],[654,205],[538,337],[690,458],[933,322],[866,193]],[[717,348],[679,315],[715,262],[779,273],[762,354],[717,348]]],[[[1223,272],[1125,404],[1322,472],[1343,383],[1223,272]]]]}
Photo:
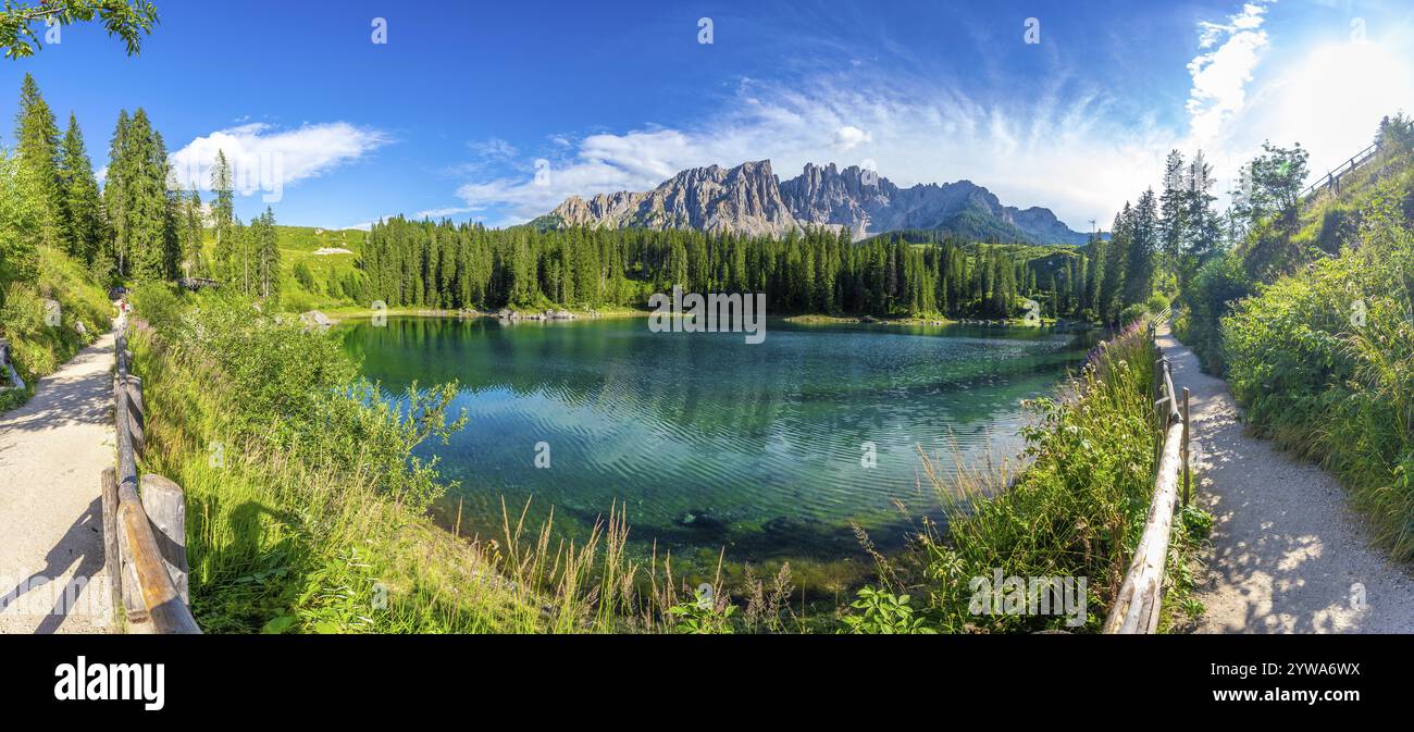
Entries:
{"type": "Polygon", "coordinates": [[[1029,244],[1083,244],[1087,239],[1051,209],[1004,206],[971,181],[899,188],[871,170],[841,170],[833,163],[806,164],[800,175],[781,181],[769,160],[689,168],[652,191],[570,196],[532,225],[773,236],[806,226],[847,226],[855,240],[901,229],[1029,244]]]}

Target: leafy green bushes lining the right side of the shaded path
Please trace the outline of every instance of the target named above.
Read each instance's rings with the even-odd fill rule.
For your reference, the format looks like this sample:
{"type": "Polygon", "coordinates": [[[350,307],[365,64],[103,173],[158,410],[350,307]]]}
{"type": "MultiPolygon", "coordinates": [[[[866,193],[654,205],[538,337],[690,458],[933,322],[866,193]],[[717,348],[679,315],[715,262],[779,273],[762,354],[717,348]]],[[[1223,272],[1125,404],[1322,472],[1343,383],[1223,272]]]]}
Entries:
{"type": "Polygon", "coordinates": [[[1233,396],[1261,434],[1321,461],[1374,536],[1414,558],[1414,233],[1407,178],[1376,185],[1357,247],[1241,301],[1223,319],[1233,396]]]}

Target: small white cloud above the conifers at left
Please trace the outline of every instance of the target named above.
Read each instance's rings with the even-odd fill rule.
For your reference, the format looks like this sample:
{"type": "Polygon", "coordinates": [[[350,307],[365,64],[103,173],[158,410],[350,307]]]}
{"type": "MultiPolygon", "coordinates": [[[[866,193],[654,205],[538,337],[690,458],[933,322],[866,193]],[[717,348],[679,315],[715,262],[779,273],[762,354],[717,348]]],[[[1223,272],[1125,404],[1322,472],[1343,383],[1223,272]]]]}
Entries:
{"type": "Polygon", "coordinates": [[[345,163],[359,160],[387,144],[392,138],[380,131],[358,127],[346,122],[304,124],[281,130],[256,122],[216,130],[197,137],[170,155],[177,184],[184,188],[211,189],[211,168],[216,153],[230,163],[236,191],[252,195],[283,192],[286,185],[320,177],[345,163]]]}

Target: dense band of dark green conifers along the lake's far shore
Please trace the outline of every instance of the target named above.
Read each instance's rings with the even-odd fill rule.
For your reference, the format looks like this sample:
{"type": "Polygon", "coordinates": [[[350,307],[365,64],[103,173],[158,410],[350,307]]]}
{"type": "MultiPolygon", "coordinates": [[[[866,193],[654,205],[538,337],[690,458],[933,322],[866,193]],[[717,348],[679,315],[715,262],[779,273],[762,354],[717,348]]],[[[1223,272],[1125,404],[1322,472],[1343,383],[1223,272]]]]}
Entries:
{"type": "MultiPolygon", "coordinates": [[[[363,295],[389,307],[636,305],[689,293],[765,293],[772,312],[1012,317],[1041,295],[1035,267],[998,246],[902,236],[853,243],[848,232],[785,237],[645,229],[536,230],[393,218],[362,249],[363,295]]],[[[1052,293],[1083,307],[1068,267],[1052,293]],[[1063,291],[1063,294],[1060,294],[1063,291]]],[[[1051,301],[1052,298],[1044,298],[1051,301]]]]}

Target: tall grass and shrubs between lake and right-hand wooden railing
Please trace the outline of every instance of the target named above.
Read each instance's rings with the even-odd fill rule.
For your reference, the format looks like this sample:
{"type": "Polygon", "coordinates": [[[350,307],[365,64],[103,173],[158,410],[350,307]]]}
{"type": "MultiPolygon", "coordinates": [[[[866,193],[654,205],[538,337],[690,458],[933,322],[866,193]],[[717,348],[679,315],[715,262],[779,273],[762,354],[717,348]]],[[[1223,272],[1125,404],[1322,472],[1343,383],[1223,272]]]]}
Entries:
{"type": "MultiPolygon", "coordinates": [[[[1065,397],[1032,404],[1036,418],[1024,431],[1029,465],[1014,479],[964,466],[945,471],[923,458],[926,485],[949,510],[947,527],[925,523],[916,551],[877,557],[887,589],[925,598],[912,610],[922,627],[1100,629],[1152,497],[1158,432],[1150,390],[1158,353],[1144,326],[1135,322],[1102,346],[1065,397]],[[1085,625],[1072,627],[1058,615],[973,612],[973,579],[991,578],[997,569],[1004,577],[1086,578],[1085,625]]],[[[1192,588],[1203,516],[1188,509],[1175,521],[1168,564],[1175,589],[1165,601],[1165,629],[1200,612],[1192,588]]]]}

